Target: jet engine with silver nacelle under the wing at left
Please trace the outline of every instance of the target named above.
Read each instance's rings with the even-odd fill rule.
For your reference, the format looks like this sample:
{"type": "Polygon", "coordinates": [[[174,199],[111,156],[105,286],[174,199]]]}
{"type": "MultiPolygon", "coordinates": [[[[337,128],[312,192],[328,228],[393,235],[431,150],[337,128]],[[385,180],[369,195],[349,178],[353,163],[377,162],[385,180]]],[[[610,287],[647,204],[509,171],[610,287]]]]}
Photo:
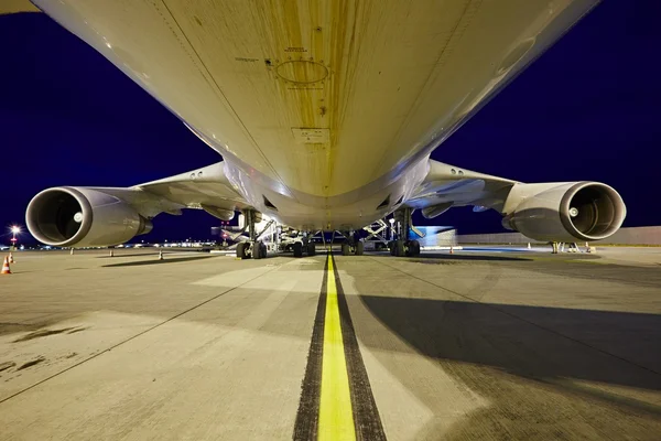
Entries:
{"type": "Polygon", "coordinates": [[[122,200],[72,186],[39,193],[28,205],[25,220],[32,236],[55,247],[118,245],[152,229],[151,220],[122,200]]]}

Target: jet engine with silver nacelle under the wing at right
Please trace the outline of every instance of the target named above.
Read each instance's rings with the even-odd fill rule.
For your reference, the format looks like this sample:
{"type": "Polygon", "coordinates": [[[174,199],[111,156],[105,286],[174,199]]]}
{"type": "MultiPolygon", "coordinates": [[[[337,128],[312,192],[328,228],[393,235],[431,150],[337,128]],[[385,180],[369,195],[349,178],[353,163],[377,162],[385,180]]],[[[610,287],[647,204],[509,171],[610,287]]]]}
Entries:
{"type": "Polygon", "coordinates": [[[598,182],[516,184],[503,207],[502,225],[535,240],[600,240],[627,215],[620,195],[598,182]]]}

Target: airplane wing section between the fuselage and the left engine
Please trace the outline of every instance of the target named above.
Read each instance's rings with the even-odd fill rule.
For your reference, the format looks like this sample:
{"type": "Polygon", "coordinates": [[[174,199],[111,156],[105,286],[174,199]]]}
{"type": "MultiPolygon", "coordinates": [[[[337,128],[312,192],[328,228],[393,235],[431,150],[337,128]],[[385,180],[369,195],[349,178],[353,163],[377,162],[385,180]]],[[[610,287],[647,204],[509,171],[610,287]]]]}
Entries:
{"type": "Polygon", "coordinates": [[[205,209],[219,218],[231,218],[234,211],[249,208],[250,204],[234,190],[225,173],[225,163],[176,174],[158,181],[139,184],[140,190],[164,198],[184,208],[205,209]]]}

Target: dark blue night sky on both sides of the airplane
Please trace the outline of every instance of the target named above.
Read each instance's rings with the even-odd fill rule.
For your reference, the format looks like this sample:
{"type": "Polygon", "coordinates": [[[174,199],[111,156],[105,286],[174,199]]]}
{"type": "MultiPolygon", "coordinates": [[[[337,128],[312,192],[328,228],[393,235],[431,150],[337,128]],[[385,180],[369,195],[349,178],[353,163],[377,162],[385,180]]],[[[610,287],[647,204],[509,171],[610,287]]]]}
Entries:
{"type": "MultiPolygon", "coordinates": [[[[661,225],[659,3],[605,0],[432,157],[523,182],[602,181],[627,203],[625,226],[661,225]]],[[[2,228],[23,225],[30,198],[50,186],[128,186],[220,160],[43,14],[0,17],[0,87],[2,228]]],[[[161,215],[149,238],[207,238],[217,223],[161,215]]],[[[499,214],[469,208],[433,223],[500,230],[499,214]]]]}

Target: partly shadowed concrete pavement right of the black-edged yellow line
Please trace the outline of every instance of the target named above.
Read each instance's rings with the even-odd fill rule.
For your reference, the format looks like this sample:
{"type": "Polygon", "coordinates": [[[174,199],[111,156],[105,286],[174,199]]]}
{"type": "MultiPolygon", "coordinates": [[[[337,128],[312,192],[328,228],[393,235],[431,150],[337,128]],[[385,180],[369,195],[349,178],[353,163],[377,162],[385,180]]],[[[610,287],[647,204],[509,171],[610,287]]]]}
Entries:
{"type": "Polygon", "coordinates": [[[389,439],[661,433],[657,268],[528,254],[336,266],[389,439]]]}

